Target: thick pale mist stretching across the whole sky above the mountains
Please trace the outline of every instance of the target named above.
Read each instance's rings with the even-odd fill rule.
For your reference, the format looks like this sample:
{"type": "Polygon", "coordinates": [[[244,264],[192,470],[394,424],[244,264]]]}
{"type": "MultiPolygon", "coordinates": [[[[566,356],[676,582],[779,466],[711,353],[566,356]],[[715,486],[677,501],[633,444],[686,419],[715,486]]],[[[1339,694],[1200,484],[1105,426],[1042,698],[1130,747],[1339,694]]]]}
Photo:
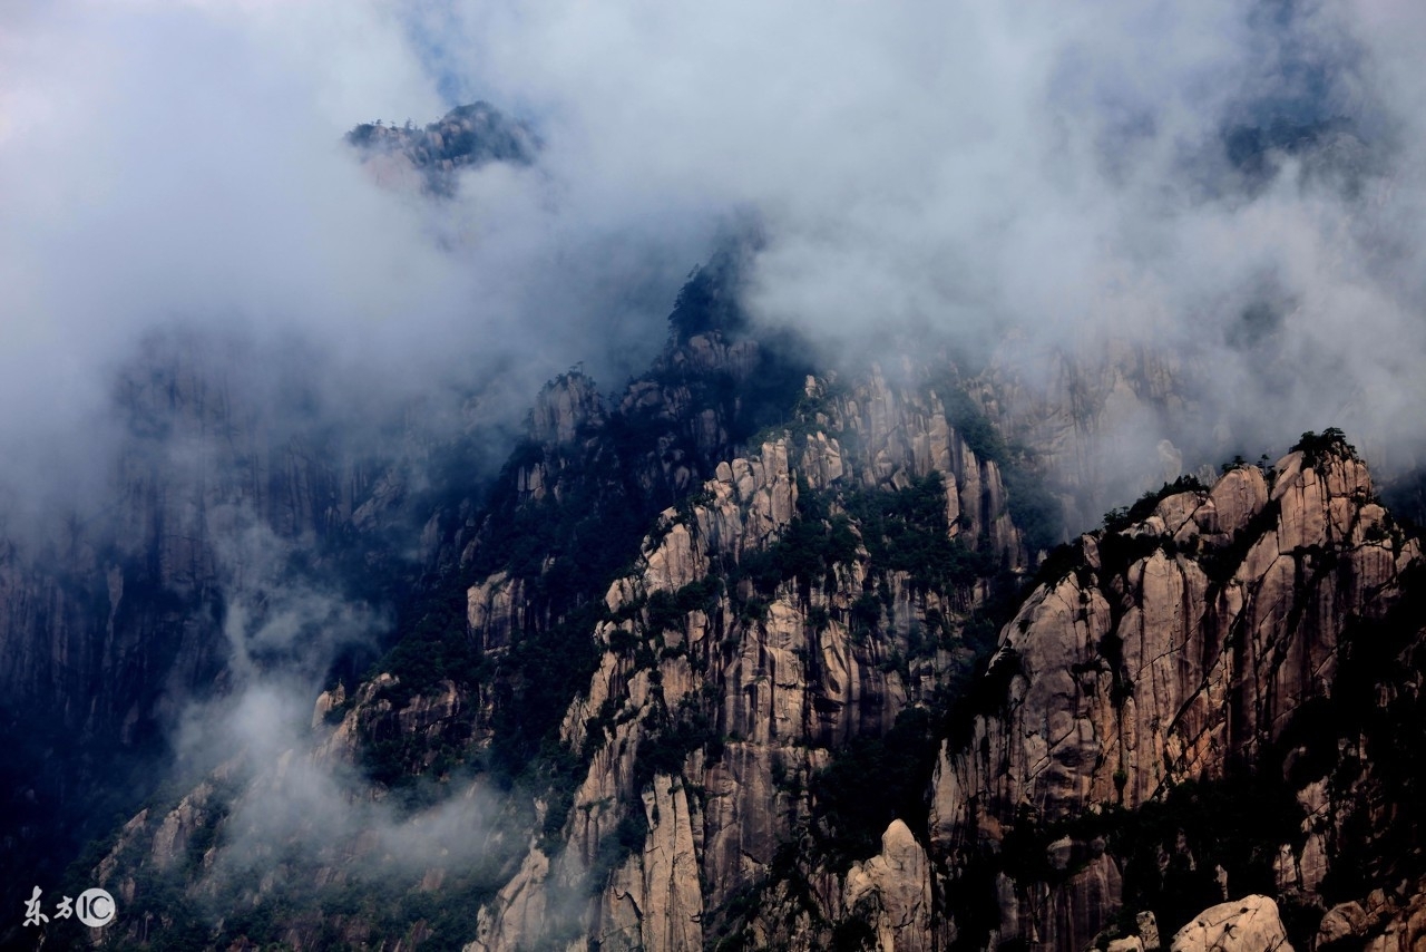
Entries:
{"type": "MultiPolygon", "coordinates": [[[[1188,368],[1214,450],[1333,424],[1393,464],[1422,448],[1406,4],[4,17],[0,445],[20,485],[93,468],[60,464],[103,455],[107,381],[154,325],[301,338],[347,427],[475,390],[513,420],[578,361],[615,385],[737,216],[764,238],[750,313],[831,353],[928,327],[992,354],[1010,333],[1027,343],[998,358],[1034,385],[1048,353],[1128,341],[1188,368]],[[341,141],[476,98],[545,147],[449,201],[376,186],[341,141]]],[[[1194,442],[1144,444],[1164,435],[1194,442]]]]}

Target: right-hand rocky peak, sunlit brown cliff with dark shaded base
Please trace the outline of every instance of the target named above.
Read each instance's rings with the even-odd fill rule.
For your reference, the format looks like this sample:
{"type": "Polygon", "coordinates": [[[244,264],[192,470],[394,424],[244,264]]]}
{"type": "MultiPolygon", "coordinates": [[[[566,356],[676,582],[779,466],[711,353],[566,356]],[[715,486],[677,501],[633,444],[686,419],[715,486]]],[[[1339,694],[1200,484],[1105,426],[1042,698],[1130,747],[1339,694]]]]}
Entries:
{"type": "Polygon", "coordinates": [[[1166,490],[1047,572],[997,651],[1001,709],[938,762],[934,842],[994,873],[1000,941],[1079,948],[1121,908],[1178,928],[1245,892],[1310,933],[1365,899],[1349,844],[1382,824],[1403,838],[1372,881],[1419,892],[1386,872],[1419,828],[1358,804],[1420,732],[1419,544],[1335,432],[1166,490]]]}

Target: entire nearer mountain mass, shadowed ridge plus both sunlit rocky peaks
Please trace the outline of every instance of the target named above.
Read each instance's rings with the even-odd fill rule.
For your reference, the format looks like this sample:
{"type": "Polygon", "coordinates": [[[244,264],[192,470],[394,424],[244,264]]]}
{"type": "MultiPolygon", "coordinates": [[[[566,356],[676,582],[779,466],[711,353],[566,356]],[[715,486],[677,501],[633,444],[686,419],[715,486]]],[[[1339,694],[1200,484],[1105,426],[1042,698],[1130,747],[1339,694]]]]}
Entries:
{"type": "MultiPolygon", "coordinates": [[[[1092,410],[934,345],[819,365],[746,320],[740,261],[690,277],[622,390],[550,381],[488,482],[398,491],[409,440],[386,477],[279,457],[268,495],[224,462],[215,498],[328,552],[314,577],[341,568],[344,597],[384,585],[395,629],[325,684],[282,658],[220,678],[224,742],[71,868],[124,909],[106,942],[1420,948],[1423,559],[1343,434],[1057,547],[1047,460],[1092,410]],[[415,559],[376,522],[422,527],[415,559]]],[[[185,425],[227,405],[160,393],[185,425]]],[[[170,567],[217,540],[138,538],[167,572],[138,592],[212,587],[170,567]]]]}

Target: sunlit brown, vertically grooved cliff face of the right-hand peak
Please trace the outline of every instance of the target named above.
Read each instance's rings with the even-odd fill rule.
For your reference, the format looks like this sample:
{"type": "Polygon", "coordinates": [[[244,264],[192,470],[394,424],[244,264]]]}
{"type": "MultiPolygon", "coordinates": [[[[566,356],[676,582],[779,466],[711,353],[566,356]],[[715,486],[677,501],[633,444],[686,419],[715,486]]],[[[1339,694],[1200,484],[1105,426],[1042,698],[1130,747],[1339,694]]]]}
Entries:
{"type": "Polygon", "coordinates": [[[971,744],[1002,755],[947,762],[941,835],[984,826],[957,814],[968,798],[1005,816],[1020,804],[1044,818],[1132,808],[1275,739],[1302,699],[1329,691],[1343,621],[1383,614],[1420,558],[1415,541],[1372,538],[1385,514],[1369,494],[1360,462],[1333,460],[1319,474],[1293,454],[1271,497],[1249,467],[1209,492],[1162,500],[1125,530],[1151,547],[1127,564],[1109,564],[1107,542],[1134,542],[1087,537],[1084,568],[1042,587],[1007,628],[1010,712],[978,721],[971,744]],[[1229,547],[1269,501],[1275,518],[1231,574],[1211,578],[1182,551],[1195,540],[1208,552],[1229,547]]]}

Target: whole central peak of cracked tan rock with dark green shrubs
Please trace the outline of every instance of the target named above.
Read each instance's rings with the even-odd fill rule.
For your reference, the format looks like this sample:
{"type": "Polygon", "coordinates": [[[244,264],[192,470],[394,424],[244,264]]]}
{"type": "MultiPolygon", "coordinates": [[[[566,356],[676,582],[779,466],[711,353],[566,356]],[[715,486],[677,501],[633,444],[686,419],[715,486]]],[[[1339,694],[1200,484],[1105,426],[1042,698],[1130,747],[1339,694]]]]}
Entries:
{"type": "Polygon", "coordinates": [[[720,465],[610,587],[599,671],[560,732],[582,782],[471,948],[821,948],[838,922],[930,941],[930,881],[900,881],[928,872],[897,816],[924,838],[917,712],[968,674],[967,622],[1024,547],[997,465],[934,390],[874,371],[840,393],[809,378],[804,398],[809,432],[720,465]],[[904,774],[870,814],[854,801],[871,789],[843,788],[870,779],[847,751],[904,774]],[[887,821],[893,858],[873,858],[887,821]],[[878,903],[896,908],[863,915],[878,903]]]}

